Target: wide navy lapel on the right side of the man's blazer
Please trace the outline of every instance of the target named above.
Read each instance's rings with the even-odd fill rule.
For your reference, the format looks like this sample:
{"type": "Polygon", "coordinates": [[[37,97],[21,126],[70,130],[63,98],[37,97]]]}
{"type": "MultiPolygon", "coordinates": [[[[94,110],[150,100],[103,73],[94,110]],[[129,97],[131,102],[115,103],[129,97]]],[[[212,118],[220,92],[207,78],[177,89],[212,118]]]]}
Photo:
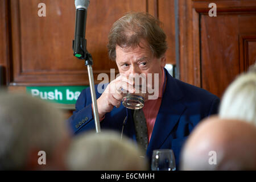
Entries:
{"type": "Polygon", "coordinates": [[[176,85],[175,79],[167,71],[166,75],[166,90],[164,91],[150,143],[148,144],[148,156],[151,156],[153,150],[162,146],[185,110],[185,106],[180,102],[183,97],[181,90],[176,85]]]}

